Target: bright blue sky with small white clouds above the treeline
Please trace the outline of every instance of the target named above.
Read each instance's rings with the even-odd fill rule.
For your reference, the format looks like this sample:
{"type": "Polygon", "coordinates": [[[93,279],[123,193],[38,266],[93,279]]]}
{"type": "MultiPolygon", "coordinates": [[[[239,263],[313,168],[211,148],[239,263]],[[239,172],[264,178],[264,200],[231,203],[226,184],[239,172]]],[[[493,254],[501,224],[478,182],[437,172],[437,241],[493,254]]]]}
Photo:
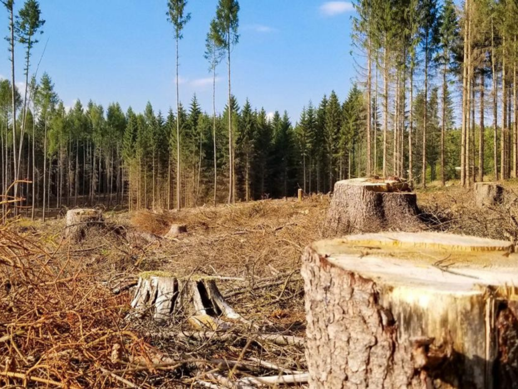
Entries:
{"type": "MultiPolygon", "coordinates": [[[[17,0],[16,6],[22,5],[17,0]]],[[[166,0],[40,0],[46,20],[34,50],[42,57],[66,106],[89,99],[105,107],[118,101],[141,111],[147,101],[166,112],[176,104],[175,46],[166,19],[166,0]]],[[[205,37],[217,0],[191,0],[191,21],[180,41],[180,100],[196,93],[211,112],[212,84],[204,59],[205,37]]],[[[241,0],[239,44],[232,52],[232,88],[240,106],[246,98],[268,113],[286,109],[295,122],[311,99],[316,105],[334,89],[343,100],[355,71],[350,55],[352,6],[319,0],[241,0]]],[[[2,9],[4,35],[7,12],[2,9]]],[[[10,74],[7,42],[0,75],[10,74]]],[[[17,46],[16,76],[23,81],[23,48],[17,46]]],[[[0,57],[0,59],[2,59],[0,57]]],[[[217,110],[226,101],[226,63],[219,68],[217,110]]],[[[20,84],[19,84],[20,85],[20,84]]]]}

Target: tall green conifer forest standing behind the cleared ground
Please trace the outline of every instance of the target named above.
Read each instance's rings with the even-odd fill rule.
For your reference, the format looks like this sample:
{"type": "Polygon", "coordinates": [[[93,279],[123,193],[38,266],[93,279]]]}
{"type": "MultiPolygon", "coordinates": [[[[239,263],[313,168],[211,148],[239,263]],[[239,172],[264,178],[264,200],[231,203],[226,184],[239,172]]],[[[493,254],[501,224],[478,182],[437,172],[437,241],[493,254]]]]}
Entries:
{"type": "MultiPolygon", "coordinates": [[[[12,78],[0,83],[2,191],[23,198],[19,211],[233,203],[298,188],[327,193],[337,180],[370,175],[469,186],[517,174],[512,1],[355,2],[354,84],[344,96],[314,96],[299,117],[282,107],[267,117],[261,102],[232,94],[237,2],[218,5],[200,52],[214,79],[217,70],[228,76],[223,112],[200,106],[196,95],[168,112],[153,109],[152,96],[144,112],[92,100],[65,109],[32,56],[45,36],[45,9],[35,0],[18,13],[12,1],[3,5],[12,78]],[[15,50],[24,63],[13,62],[15,50]],[[23,90],[13,90],[15,74],[23,90]]],[[[178,53],[190,13],[175,4],[167,13],[178,53]]]]}

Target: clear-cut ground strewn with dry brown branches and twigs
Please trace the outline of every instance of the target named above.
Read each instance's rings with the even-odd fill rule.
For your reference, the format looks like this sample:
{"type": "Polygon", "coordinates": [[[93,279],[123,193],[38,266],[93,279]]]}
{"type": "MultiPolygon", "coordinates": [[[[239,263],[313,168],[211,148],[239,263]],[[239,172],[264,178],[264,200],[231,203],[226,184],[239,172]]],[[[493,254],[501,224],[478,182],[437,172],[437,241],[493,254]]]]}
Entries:
{"type": "MultiPolygon", "coordinates": [[[[418,190],[421,209],[440,220],[433,229],[515,242],[517,199],[518,183],[506,184],[504,204],[482,210],[458,185],[418,190]]],[[[62,238],[60,217],[0,227],[0,386],[210,387],[218,378],[305,371],[303,346],[259,334],[304,337],[300,254],[322,238],[329,200],[105,212],[106,227],[79,244],[62,238]],[[171,224],[188,232],[161,239],[171,224]],[[156,270],[219,277],[248,324],[207,339],[186,335],[186,320],[126,319],[133,289],[116,289],[156,270]]]]}

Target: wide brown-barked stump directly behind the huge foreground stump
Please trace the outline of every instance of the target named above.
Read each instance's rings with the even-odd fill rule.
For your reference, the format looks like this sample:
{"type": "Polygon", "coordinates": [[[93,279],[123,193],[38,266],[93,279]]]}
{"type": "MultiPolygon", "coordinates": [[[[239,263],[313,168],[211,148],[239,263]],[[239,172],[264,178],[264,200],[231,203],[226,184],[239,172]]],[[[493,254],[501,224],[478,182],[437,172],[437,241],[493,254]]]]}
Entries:
{"type": "Polygon", "coordinates": [[[327,212],[326,237],[383,230],[421,231],[425,228],[415,193],[394,179],[353,178],[335,184],[327,212]]]}

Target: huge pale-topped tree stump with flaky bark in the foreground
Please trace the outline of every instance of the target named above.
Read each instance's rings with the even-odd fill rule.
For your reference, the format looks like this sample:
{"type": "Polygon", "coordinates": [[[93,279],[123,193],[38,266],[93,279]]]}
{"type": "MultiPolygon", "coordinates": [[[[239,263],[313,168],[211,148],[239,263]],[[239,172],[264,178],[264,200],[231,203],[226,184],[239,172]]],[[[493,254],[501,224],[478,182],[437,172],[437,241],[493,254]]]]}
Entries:
{"type": "Polygon", "coordinates": [[[301,272],[311,387],[516,387],[513,250],[433,232],[308,246],[301,272]]]}

